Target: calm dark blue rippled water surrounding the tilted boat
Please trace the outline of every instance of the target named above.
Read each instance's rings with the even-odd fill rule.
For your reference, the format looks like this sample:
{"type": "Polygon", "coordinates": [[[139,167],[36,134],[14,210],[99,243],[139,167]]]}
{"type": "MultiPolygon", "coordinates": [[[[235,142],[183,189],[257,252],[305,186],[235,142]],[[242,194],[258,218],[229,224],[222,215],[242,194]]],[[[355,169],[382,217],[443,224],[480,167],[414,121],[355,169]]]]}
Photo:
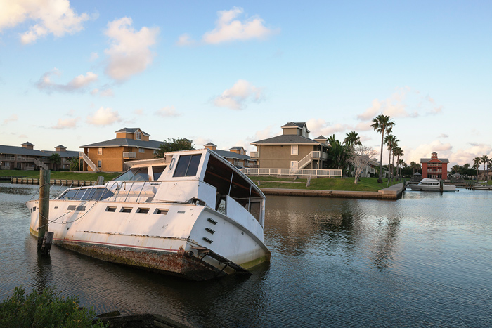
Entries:
{"type": "Polygon", "coordinates": [[[0,184],[0,300],[49,285],[98,313],[195,327],[492,327],[492,192],[268,197],[271,263],[188,282],[56,246],[38,258],[24,204],[37,188],[0,184]]]}

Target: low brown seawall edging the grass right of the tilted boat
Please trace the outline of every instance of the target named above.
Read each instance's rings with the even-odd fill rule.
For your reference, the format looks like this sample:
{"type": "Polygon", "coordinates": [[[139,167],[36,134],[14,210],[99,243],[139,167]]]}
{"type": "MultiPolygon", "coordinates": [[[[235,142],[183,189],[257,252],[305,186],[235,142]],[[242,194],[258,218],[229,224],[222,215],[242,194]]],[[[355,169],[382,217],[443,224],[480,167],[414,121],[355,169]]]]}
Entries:
{"type": "Polygon", "coordinates": [[[399,199],[403,193],[403,183],[397,183],[396,185],[391,185],[391,187],[378,191],[307,190],[283,188],[261,188],[261,191],[265,195],[279,196],[396,200],[399,199]]]}

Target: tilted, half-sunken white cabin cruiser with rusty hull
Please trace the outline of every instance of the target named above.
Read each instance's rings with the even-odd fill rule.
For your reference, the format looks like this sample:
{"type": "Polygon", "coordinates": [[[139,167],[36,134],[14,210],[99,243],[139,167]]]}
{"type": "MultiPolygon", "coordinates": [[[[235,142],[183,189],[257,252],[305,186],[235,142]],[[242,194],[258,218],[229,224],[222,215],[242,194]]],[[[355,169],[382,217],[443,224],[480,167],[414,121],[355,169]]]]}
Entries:
{"type": "MultiPolygon", "coordinates": [[[[53,244],[192,280],[249,273],[269,261],[266,197],[224,158],[203,149],[128,164],[114,181],[50,200],[53,244]]],[[[26,204],[37,236],[39,199],[26,204]]]]}

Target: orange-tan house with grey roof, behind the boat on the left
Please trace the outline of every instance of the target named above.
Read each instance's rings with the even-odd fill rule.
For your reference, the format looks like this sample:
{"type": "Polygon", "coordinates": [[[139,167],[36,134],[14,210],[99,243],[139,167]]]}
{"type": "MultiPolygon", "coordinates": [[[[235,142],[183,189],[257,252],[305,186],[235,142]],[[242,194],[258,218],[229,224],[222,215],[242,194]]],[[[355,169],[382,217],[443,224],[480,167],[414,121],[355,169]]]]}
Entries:
{"type": "Polygon", "coordinates": [[[83,145],[79,152],[83,171],[124,171],[124,164],[136,159],[152,159],[162,141],[150,140],[150,134],[140,128],[115,131],[116,138],[83,145]]]}

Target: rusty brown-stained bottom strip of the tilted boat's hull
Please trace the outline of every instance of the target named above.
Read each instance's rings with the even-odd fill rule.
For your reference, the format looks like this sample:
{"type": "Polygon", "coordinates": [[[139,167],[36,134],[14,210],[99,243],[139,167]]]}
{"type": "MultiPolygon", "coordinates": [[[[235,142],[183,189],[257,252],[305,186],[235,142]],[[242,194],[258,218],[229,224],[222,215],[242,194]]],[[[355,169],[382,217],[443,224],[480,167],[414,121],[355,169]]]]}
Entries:
{"type": "Polygon", "coordinates": [[[64,241],[57,241],[55,244],[103,261],[129,265],[157,273],[166,273],[190,280],[209,280],[226,275],[200,258],[190,256],[186,251],[157,252],[64,241]]]}

